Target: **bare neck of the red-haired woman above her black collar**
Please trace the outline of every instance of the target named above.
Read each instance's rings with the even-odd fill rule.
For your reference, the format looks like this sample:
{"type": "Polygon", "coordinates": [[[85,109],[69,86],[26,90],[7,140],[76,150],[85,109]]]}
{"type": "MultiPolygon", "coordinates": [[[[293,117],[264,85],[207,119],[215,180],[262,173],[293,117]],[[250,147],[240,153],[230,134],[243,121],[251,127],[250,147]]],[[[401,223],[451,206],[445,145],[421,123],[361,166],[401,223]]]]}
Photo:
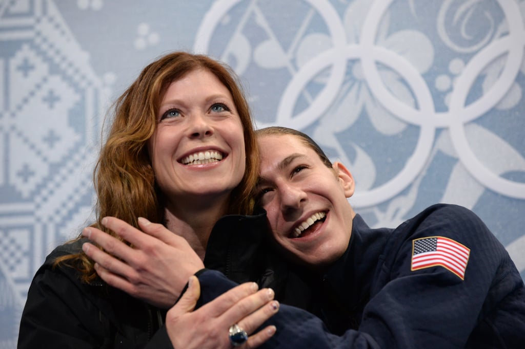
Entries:
{"type": "Polygon", "coordinates": [[[222,200],[220,204],[198,208],[192,208],[190,205],[168,205],[165,210],[166,227],[171,232],[184,237],[197,255],[204,260],[209,235],[218,219],[225,214],[227,203],[227,200],[222,200]]]}

